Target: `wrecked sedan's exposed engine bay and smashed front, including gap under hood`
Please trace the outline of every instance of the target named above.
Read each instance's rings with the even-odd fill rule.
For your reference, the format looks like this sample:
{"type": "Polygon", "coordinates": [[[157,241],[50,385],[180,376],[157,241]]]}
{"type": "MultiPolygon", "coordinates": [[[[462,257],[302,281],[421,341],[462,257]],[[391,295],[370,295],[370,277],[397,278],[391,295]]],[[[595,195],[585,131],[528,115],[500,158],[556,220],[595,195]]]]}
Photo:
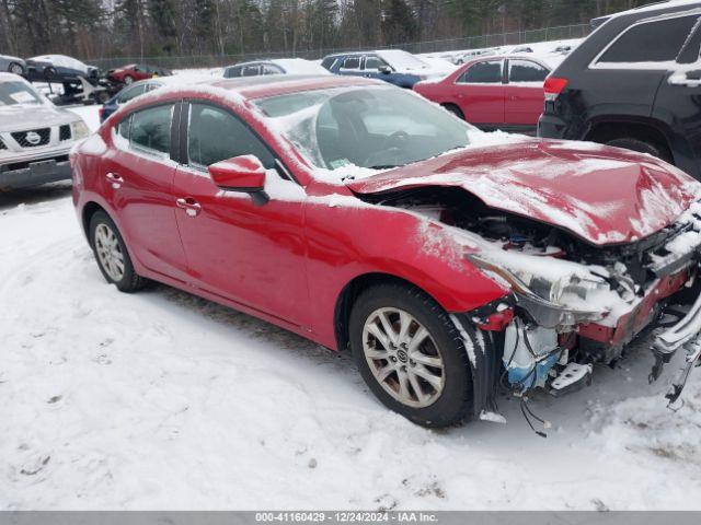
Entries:
{"type": "MultiPolygon", "coordinates": [[[[466,316],[491,334],[501,361],[498,383],[517,395],[541,387],[559,396],[588,385],[595,363],[613,364],[634,337],[660,326],[663,317],[679,322],[685,313],[670,317],[664,308],[693,303],[699,295],[699,203],[653,235],[597,246],[556,225],[490,208],[460,188],[420,187],[361,198],[457,229],[469,237],[468,247],[476,245],[464,257],[512,294],[466,316]]],[[[701,325],[696,332],[687,328],[686,340],[677,338],[666,349],[655,345],[651,381],[678,348],[686,345],[693,353],[688,347],[699,330],[701,325]]],[[[670,402],[679,393],[668,395],[670,402]]]]}

